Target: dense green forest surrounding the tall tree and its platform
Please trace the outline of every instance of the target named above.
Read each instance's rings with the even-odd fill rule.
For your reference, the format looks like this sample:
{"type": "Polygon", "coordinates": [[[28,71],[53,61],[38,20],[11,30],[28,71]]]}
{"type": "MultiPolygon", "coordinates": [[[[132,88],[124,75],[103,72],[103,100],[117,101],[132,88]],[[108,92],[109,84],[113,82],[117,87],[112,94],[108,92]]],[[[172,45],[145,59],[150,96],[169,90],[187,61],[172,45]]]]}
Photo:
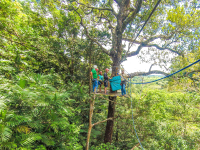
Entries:
{"type": "MultiPolygon", "coordinates": [[[[0,149],[85,149],[92,99],[89,73],[93,65],[103,71],[112,66],[110,57],[85,34],[103,42],[111,35],[95,29],[85,33],[80,15],[74,11],[76,3],[67,1],[61,8],[53,0],[0,1],[0,149]]],[[[174,7],[168,7],[165,15],[171,24],[163,30],[176,34],[179,28],[177,35],[186,41],[176,45],[184,54],[171,58],[168,73],[173,73],[200,59],[200,5],[195,0],[189,7],[179,6],[178,1],[165,3],[174,7]],[[182,21],[177,23],[174,16],[182,21]]],[[[152,19],[151,29],[155,30],[158,18],[152,19]]],[[[88,24],[93,23],[90,21],[88,24]]],[[[135,76],[132,82],[158,78],[135,76]]],[[[130,97],[117,98],[112,143],[104,143],[103,122],[92,128],[89,149],[141,149],[132,111],[144,149],[200,149],[199,63],[164,80],[127,86],[133,108],[130,97]]],[[[107,118],[108,105],[107,96],[96,95],[93,123],[107,118]]]]}

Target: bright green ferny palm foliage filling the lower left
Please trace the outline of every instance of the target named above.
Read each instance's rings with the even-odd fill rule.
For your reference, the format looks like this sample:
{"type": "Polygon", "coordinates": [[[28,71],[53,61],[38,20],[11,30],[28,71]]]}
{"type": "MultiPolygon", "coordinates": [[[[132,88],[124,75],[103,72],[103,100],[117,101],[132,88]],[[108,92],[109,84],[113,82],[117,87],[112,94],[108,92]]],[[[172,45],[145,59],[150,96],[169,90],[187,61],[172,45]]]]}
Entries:
{"type": "Polygon", "coordinates": [[[56,74],[23,73],[13,83],[2,83],[1,148],[81,148],[80,127],[73,123],[78,108],[70,106],[75,100],[62,86],[56,74]]]}

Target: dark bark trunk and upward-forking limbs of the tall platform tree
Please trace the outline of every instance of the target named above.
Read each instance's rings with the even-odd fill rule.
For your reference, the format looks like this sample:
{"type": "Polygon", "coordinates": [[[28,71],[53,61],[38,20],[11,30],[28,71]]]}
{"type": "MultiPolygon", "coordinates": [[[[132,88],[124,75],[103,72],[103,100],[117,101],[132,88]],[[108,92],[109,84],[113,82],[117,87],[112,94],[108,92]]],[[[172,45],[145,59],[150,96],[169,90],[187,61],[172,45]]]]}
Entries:
{"type": "MultiPolygon", "coordinates": [[[[116,14],[115,11],[112,9],[112,4],[110,4],[111,8],[109,9],[106,8],[106,10],[113,12],[117,19],[117,25],[112,29],[112,48],[110,49],[110,51],[103,48],[103,46],[97,41],[97,39],[93,38],[93,36],[90,36],[87,26],[84,25],[82,15],[74,9],[81,18],[80,23],[85,30],[86,36],[90,40],[95,42],[98,46],[100,46],[101,50],[112,58],[112,61],[113,61],[112,77],[117,76],[117,73],[119,73],[119,69],[120,69],[119,65],[122,58],[122,34],[125,31],[126,26],[135,18],[136,14],[139,12],[142,5],[142,0],[137,0],[135,3],[135,8],[130,9],[130,0],[116,0],[115,2],[119,6],[118,14],[116,14]]],[[[84,4],[81,4],[81,5],[84,5],[84,4]]],[[[87,6],[87,7],[91,8],[91,6],[87,6]]],[[[94,7],[92,8],[98,9],[94,7]]],[[[105,10],[105,8],[103,10],[105,10]]],[[[116,91],[113,92],[111,90],[111,93],[116,93],[116,91]]],[[[116,96],[109,97],[109,99],[114,101],[114,102],[109,101],[109,106],[108,106],[108,118],[113,118],[113,120],[107,121],[105,137],[104,137],[105,143],[112,142],[116,96]]]]}

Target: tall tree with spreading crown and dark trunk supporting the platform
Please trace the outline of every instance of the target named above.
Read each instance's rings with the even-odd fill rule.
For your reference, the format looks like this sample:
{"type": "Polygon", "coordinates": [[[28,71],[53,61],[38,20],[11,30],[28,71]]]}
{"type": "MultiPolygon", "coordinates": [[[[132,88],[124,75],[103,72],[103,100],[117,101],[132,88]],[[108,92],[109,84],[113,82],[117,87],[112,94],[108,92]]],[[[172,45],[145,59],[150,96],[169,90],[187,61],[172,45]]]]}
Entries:
{"type": "MultiPolygon", "coordinates": [[[[159,57],[164,53],[167,53],[166,57],[169,53],[184,55],[184,52],[188,51],[187,48],[194,43],[193,37],[198,37],[199,25],[195,23],[194,17],[199,20],[197,15],[199,2],[196,0],[162,1],[157,8],[156,3],[155,0],[75,0],[60,5],[66,4],[65,8],[79,16],[84,35],[99,46],[101,53],[110,56],[112,76],[116,76],[120,64],[127,57],[141,53],[145,47],[149,50],[157,50],[157,55],[154,54],[157,57],[153,56],[153,59],[158,59],[156,63],[161,63],[165,60],[159,57]],[[156,11],[136,39],[139,29],[154,8],[156,11]],[[136,50],[131,49],[133,45],[137,47],[136,50]]],[[[146,75],[151,73],[165,74],[150,69],[146,75]]],[[[132,73],[131,76],[142,74],[144,72],[132,73]]],[[[116,101],[116,97],[110,99],[116,101]]],[[[114,118],[114,114],[115,103],[109,102],[108,117],[114,118]]],[[[105,143],[112,142],[113,126],[114,119],[108,120],[105,143]]]]}

